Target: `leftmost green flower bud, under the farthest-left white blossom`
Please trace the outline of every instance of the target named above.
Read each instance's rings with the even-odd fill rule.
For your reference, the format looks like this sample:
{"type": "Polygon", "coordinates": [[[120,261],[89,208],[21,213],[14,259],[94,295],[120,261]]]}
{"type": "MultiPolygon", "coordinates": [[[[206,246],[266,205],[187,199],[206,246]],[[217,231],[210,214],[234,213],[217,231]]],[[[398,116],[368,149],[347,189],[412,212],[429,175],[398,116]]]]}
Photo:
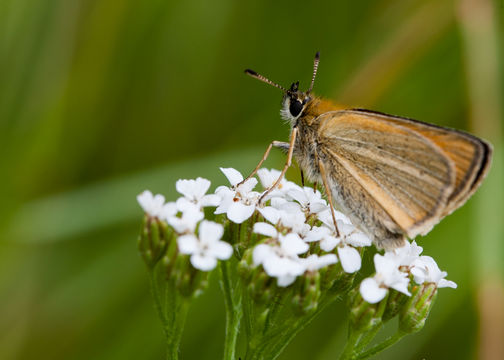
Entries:
{"type": "Polygon", "coordinates": [[[144,215],[138,250],[149,268],[153,268],[163,257],[171,233],[171,228],[164,221],[144,215]]]}

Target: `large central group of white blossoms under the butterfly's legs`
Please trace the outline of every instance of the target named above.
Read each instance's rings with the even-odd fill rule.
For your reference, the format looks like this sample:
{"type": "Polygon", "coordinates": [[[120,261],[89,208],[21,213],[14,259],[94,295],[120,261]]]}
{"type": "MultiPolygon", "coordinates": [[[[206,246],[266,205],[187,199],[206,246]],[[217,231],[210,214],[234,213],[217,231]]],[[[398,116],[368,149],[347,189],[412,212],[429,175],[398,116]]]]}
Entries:
{"type": "MultiPolygon", "coordinates": [[[[370,246],[371,240],[340,212],[336,212],[341,232],[337,237],[330,207],[319,191],[283,179],[268,194],[269,205],[263,206],[258,204],[261,193],[253,190],[257,185],[255,178],[240,184],[243,177],[238,171],[221,170],[231,187],[217,189],[222,203],[215,213],[226,213],[236,223],[247,220],[255,211],[262,215],[267,222],[255,223],[253,231],[266,238],[255,246],[253,262],[255,266],[262,265],[269,276],[277,278],[279,286],[288,286],[297,276],[335,264],[338,259],[348,273],[361,268],[358,248],[370,246]],[[310,225],[316,220],[320,220],[321,226],[310,225]],[[313,242],[319,242],[322,254],[308,253],[313,242]]],[[[260,169],[257,174],[261,185],[267,189],[278,179],[280,171],[260,169]]]]}

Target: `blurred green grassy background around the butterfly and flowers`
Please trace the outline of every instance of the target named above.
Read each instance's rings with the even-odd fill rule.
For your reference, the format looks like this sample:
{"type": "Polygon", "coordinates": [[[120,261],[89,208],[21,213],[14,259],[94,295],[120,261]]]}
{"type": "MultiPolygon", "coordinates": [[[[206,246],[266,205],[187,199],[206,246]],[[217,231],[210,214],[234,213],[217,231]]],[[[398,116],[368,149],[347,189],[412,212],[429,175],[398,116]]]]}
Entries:
{"type": "MultiPolygon", "coordinates": [[[[251,170],[288,128],[281,93],[243,69],[306,88],[317,50],[317,94],[466,129],[496,150],[478,194],[419,239],[459,288],[442,289],[424,330],[378,358],[499,354],[503,9],[0,0],[0,359],[162,358],[135,196],[148,188],[174,199],[176,179],[206,177],[213,189],[226,182],[219,166],[251,170]]],[[[282,161],[275,153],[267,166],[282,161]]],[[[215,280],[190,310],[182,359],[222,356],[215,280]]],[[[341,302],[327,309],[281,359],[337,358],[346,318],[341,302]]]]}

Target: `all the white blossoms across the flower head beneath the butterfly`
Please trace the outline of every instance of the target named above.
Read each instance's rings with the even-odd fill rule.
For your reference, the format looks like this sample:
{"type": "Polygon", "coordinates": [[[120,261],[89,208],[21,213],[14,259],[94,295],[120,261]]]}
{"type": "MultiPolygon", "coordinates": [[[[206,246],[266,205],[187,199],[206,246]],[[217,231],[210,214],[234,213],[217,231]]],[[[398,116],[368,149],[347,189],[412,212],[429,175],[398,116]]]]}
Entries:
{"type": "MultiPolygon", "coordinates": [[[[256,222],[253,232],[263,238],[255,245],[252,260],[255,266],[277,279],[279,286],[292,284],[298,276],[323,267],[341,263],[346,273],[361,268],[360,248],[370,246],[371,240],[359,231],[342,213],[336,211],[339,230],[336,236],[330,207],[319,191],[301,187],[282,179],[279,186],[268,194],[265,204],[260,204],[262,192],[255,191],[256,178],[244,178],[235,169],[221,168],[231,186],[220,186],[215,194],[206,194],[210,181],[179,180],[177,191],[183,196],[176,202],[165,203],[162,195],[153,196],[144,191],[137,199],[146,213],[166,221],[178,234],[179,252],[191,255],[192,265],[202,271],[215,268],[217,260],[227,260],[232,255],[230,244],[221,241],[223,226],[203,220],[204,207],[216,207],[215,214],[226,214],[237,224],[259,213],[265,222],[256,222]],[[317,225],[314,225],[317,224],[317,225]],[[318,243],[318,247],[310,244],[318,243]],[[318,249],[317,254],[310,249],[318,249]]],[[[278,170],[260,169],[257,173],[261,185],[268,189],[280,176],[278,170]]],[[[415,242],[384,255],[376,254],[376,274],[364,279],[360,285],[362,297],[369,303],[382,300],[389,288],[410,295],[410,275],[418,284],[435,283],[437,287],[456,287],[445,280],[434,259],[420,256],[422,248],[415,242]]]]}

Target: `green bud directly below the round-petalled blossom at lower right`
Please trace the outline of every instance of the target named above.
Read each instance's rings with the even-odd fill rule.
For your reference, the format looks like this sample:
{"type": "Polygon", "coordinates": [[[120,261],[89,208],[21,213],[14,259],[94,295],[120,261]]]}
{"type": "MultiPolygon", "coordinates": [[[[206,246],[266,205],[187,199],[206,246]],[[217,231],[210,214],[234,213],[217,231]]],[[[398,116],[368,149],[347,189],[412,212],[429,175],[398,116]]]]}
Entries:
{"type": "Polygon", "coordinates": [[[382,322],[383,312],[387,306],[388,294],[376,304],[364,300],[359,292],[359,287],[352,290],[350,296],[350,325],[357,332],[368,331],[382,322]]]}

